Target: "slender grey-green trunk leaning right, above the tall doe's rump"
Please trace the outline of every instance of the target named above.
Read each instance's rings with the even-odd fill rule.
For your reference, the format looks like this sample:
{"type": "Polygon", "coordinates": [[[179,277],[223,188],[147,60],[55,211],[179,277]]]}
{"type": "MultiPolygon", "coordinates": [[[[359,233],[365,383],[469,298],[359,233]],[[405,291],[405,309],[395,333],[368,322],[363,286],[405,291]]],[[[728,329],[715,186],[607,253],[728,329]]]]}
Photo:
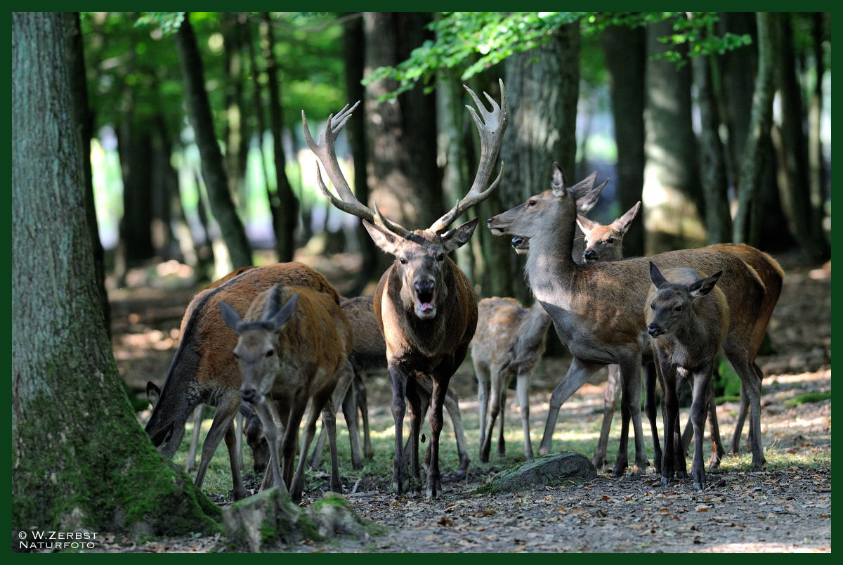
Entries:
{"type": "Polygon", "coordinates": [[[764,175],[764,139],[770,135],[776,64],[776,15],[760,12],[758,21],[758,73],[752,100],[749,134],[741,159],[738,180],[738,214],[733,224],[733,241],[757,246],[760,243],[758,196],[764,175]]]}

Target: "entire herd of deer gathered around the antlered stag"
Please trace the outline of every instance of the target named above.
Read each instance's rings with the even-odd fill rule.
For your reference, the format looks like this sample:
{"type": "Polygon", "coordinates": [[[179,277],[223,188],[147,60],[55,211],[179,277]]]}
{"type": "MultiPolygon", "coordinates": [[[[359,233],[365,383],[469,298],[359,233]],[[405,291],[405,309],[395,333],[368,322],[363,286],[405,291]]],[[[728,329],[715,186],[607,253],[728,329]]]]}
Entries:
{"type": "MultiPolygon", "coordinates": [[[[395,420],[395,492],[406,492],[413,482],[421,485],[418,444],[421,422],[429,410],[431,441],[425,486],[427,497],[433,498],[442,489],[439,437],[443,406],[454,422],[458,472],[463,473],[469,465],[459,405],[448,391],[448,382],[469,349],[480,401],[481,460],[488,460],[499,416],[498,452],[503,453],[501,411],[513,377],[517,378],[521,406],[524,455],[533,456],[529,374],[544,351],[545,333],[552,322],[573,360],[550,397],[539,454],[550,451],[561,404],[595,371],[610,365],[604,423],[594,463],[604,464],[609,427],[620,396],[622,427],[614,474],[620,476],[626,471],[630,422],[636,448],[633,472],[644,472],[648,461],[640,414],[643,363],[645,410],[652,430],[656,472],[664,484],[671,482],[674,474],[685,476],[685,449],[693,434],[691,476],[695,488],[704,488],[702,428],[706,412],[712,430],[710,464],[717,465],[724,453],[711,394],[711,372],[717,353],[722,351],[742,383],[741,410],[730,449],[738,451],[749,412],[752,469],[760,470],[765,465],[760,428],[762,374],[754,360],[781,292],[780,266],[771,256],[748,245],[710,245],[623,259],[623,237],[640,202],[609,225],[594,223],[582,214],[597,202],[608,180],[597,184],[597,174],[593,173],[571,186],[559,165],[554,164],[549,190],[486,222],[492,234],[510,236],[513,249],[527,256],[525,270],[535,304],[524,309],[514,299],[497,297],[478,304],[468,278],[448,254],[469,241],[479,220],[455,228],[451,225],[490,196],[502,178],[503,164],[497,178],[490,182],[507,126],[507,98],[501,82],[500,105],[486,94],[489,111],[473,91],[466,89],[476,105],[476,110],[467,107],[480,134],[480,164],[470,191],[428,229],[405,229],[354,196],[342,175],[334,144],[357,105],[346,105],[338,115],[329,116],[316,141],[302,113],[304,137],[337,196],[325,186],[317,164],[320,191],[335,207],[361,218],[375,244],[395,256],[395,261],[380,277],[373,297],[344,299],[325,277],[299,263],[244,267],[196,294],[185,311],[180,346],[164,389],[158,390],[152,383],[148,387],[148,392],[157,396],[146,427],[153,444],[162,446],[164,455],[172,457],[196,406],[216,406],[201,449],[196,485],[201,487],[208,463],[224,437],[234,498],[243,498],[240,434],[234,431],[234,417],[240,411],[248,418],[247,441],[255,454],[255,468],[266,465],[262,487],[280,487],[298,501],[309,446],[321,414],[323,435],[311,463],[319,460],[326,433],[330,487],[341,491],[336,411],[341,409],[345,414],[352,465],[360,468],[362,458],[372,456],[362,374],[385,366],[395,420]],[[583,232],[579,238],[577,226],[583,232]],[[657,378],[664,391],[664,454],[656,428],[657,378]],[[486,391],[489,380],[491,398],[486,391]],[[691,385],[693,400],[683,438],[678,395],[685,381],[691,385]],[[293,472],[298,430],[308,405],[293,472]],[[358,407],[362,412],[364,454],[357,439],[358,407]],[[405,414],[409,416],[406,445],[405,414]]],[[[189,465],[191,460],[192,454],[189,465]]]]}

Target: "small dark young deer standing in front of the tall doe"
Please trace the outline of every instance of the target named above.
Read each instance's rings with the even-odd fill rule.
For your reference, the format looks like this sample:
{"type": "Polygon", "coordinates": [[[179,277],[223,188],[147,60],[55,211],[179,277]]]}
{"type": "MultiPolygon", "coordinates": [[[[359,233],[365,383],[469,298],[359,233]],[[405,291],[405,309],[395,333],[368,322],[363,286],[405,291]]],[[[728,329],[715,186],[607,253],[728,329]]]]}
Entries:
{"type": "Polygon", "coordinates": [[[688,268],[665,269],[663,274],[650,262],[652,288],[644,311],[666,405],[662,461],[665,485],[673,480],[674,471],[680,477],[685,476],[679,390],[685,379],[690,379],[693,390],[690,421],[694,426],[694,462],[690,473],[695,489],[706,486],[702,464],[706,400],[711,371],[729,327],[726,296],[720,288],[715,288],[721,275],[722,271],[718,271],[710,277],[701,277],[688,268]]]}

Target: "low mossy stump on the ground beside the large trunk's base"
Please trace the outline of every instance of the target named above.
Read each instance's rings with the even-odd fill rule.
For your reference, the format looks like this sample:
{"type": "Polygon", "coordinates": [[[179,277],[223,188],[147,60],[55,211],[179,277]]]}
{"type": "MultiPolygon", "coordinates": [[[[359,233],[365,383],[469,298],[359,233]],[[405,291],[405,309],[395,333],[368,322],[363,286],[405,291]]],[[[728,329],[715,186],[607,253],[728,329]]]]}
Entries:
{"type": "Polygon", "coordinates": [[[278,552],[301,540],[324,540],[336,535],[358,539],[378,535],[381,526],[362,519],[340,494],[327,492],[299,508],[289,495],[272,487],[223,508],[228,551],[278,552]]]}

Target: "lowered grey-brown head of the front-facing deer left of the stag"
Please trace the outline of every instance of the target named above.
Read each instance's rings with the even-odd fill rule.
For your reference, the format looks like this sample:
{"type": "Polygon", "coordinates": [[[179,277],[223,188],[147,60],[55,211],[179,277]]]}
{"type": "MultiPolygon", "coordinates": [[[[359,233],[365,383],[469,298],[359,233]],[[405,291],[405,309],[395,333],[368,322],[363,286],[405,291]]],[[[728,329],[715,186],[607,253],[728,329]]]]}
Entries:
{"type": "MultiPolygon", "coordinates": [[[[281,304],[281,297],[279,285],[260,293],[250,306],[251,312],[255,304],[262,304],[260,316],[257,320],[247,321],[241,320],[239,314],[227,303],[219,303],[223,320],[238,336],[234,358],[243,376],[240,397],[246,402],[262,403],[280,372],[284,352],[277,351],[278,335],[293,317],[298,293],[293,294],[284,304],[281,304]]],[[[252,317],[247,315],[247,318],[252,317]]]]}

